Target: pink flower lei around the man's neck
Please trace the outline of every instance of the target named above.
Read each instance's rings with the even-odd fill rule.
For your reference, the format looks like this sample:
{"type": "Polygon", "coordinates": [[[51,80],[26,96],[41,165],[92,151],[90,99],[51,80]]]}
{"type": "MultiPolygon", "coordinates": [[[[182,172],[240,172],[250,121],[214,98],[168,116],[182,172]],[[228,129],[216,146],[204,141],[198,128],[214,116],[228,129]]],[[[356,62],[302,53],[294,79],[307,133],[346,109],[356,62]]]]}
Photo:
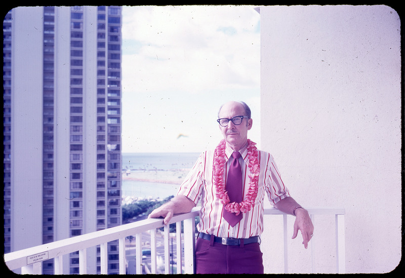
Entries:
{"type": "Polygon", "coordinates": [[[249,168],[250,168],[250,182],[249,189],[245,196],[244,201],[240,203],[229,203],[228,192],[225,190],[224,182],[224,168],[225,168],[225,140],[222,139],[214,152],[214,184],[217,190],[216,195],[221,200],[221,203],[225,206],[225,209],[231,213],[238,215],[240,212],[245,213],[255,206],[255,200],[257,196],[257,188],[259,182],[259,151],[257,150],[256,143],[248,139],[248,155],[249,155],[249,168]]]}

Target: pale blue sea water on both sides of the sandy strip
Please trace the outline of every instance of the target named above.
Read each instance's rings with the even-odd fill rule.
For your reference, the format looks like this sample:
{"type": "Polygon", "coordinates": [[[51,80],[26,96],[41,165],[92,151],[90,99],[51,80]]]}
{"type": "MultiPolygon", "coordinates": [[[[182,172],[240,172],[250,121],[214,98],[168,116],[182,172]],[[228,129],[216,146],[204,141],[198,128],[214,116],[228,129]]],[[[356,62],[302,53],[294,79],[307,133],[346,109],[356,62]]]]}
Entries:
{"type": "MultiPolygon", "coordinates": [[[[123,153],[123,172],[127,170],[168,170],[191,169],[199,153],[163,152],[163,153],[123,153]]],[[[123,180],[122,196],[137,198],[166,198],[175,195],[179,185],[147,181],[123,180]]]]}

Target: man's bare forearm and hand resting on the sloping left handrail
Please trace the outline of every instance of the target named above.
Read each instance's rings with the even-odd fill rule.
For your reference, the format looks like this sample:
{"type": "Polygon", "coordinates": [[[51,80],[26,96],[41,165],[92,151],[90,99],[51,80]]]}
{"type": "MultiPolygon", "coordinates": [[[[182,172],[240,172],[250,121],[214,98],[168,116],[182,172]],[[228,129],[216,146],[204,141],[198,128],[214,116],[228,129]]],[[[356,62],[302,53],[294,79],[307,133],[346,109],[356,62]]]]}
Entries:
{"type": "Polygon", "coordinates": [[[170,219],[172,219],[173,215],[190,212],[194,207],[194,202],[189,198],[184,195],[177,195],[168,203],[163,204],[157,209],[153,210],[149,214],[148,218],[164,217],[165,219],[163,220],[163,223],[167,225],[170,219]]]}

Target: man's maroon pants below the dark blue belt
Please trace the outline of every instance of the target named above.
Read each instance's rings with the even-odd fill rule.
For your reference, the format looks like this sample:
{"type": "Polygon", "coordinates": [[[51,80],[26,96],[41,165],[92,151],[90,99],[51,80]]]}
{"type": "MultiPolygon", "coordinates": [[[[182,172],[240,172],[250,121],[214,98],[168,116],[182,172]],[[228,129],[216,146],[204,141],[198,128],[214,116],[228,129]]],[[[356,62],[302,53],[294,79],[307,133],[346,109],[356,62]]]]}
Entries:
{"type": "Polygon", "coordinates": [[[197,237],[195,272],[197,274],[233,273],[263,274],[262,252],[258,243],[237,246],[222,245],[197,237]]]}

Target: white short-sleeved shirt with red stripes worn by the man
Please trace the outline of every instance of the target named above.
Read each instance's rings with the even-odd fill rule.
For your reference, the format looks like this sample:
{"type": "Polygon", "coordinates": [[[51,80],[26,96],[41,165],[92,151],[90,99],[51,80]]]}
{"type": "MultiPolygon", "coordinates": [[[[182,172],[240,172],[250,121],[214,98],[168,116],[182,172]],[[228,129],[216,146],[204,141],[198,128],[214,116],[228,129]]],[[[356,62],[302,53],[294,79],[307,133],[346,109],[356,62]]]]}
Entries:
{"type": "MultiPolygon", "coordinates": [[[[249,157],[247,147],[248,145],[239,150],[241,156],[238,158],[242,168],[245,193],[248,192],[250,182],[250,178],[248,177],[250,168],[248,167],[249,157]]],[[[232,152],[233,150],[226,146],[224,178],[227,176],[229,166],[234,159],[231,156],[232,152]]],[[[213,184],[214,150],[206,151],[199,155],[197,162],[177,192],[178,195],[188,197],[196,205],[198,202],[201,202],[200,222],[197,225],[199,232],[238,239],[246,239],[262,233],[264,194],[267,193],[270,204],[274,205],[285,197],[289,197],[290,193],[281,180],[273,156],[268,152],[259,150],[258,159],[260,173],[255,205],[249,212],[243,214],[243,218],[238,224],[231,227],[222,217],[223,205],[216,197],[216,189],[213,184]]]]}

